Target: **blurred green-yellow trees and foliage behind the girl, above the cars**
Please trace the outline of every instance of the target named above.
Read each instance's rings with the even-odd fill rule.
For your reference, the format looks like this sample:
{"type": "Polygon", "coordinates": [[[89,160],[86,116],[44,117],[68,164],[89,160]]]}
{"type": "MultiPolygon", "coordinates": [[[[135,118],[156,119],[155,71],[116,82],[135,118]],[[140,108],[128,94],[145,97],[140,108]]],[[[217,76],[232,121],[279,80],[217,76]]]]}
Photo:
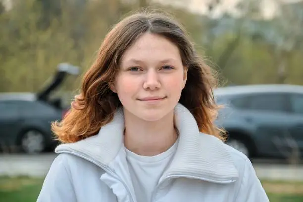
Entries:
{"type": "MultiPolygon", "coordinates": [[[[12,0],[9,9],[0,3],[0,92],[39,91],[61,62],[84,72],[110,27],[146,6],[176,16],[228,84],[303,84],[303,2],[281,4],[271,20],[258,17],[259,0],[240,1],[237,18],[212,17],[220,0],[209,2],[207,16],[147,0],[12,0]]],[[[75,89],[79,79],[63,89],[75,89]]]]}

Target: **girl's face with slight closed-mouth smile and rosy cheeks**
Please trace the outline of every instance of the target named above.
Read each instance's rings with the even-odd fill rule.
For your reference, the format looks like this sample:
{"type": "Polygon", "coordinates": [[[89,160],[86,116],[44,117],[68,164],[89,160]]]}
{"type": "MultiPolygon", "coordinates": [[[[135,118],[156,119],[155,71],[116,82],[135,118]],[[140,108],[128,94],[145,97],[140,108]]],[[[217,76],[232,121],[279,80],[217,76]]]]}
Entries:
{"type": "Polygon", "coordinates": [[[124,113],[157,121],[173,113],[186,78],[178,47],[145,33],[125,51],[111,90],[118,94],[124,113]]]}

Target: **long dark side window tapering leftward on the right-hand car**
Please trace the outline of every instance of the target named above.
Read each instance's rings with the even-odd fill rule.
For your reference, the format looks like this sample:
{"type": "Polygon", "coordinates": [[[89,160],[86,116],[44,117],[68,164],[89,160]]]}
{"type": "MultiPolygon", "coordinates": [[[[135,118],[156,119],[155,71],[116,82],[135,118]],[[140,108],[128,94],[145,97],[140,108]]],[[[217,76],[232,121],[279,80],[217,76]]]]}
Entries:
{"type": "Polygon", "coordinates": [[[285,112],[288,107],[286,96],[278,93],[238,96],[234,98],[231,103],[237,108],[261,111],[285,112]]]}

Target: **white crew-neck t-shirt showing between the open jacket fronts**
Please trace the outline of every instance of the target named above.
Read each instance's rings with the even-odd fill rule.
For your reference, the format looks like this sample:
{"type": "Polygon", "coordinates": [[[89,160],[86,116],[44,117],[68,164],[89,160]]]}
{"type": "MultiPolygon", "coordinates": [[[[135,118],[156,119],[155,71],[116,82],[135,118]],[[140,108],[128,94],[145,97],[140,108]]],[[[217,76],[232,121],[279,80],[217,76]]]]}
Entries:
{"type": "Polygon", "coordinates": [[[137,202],[150,202],[161,175],[169,165],[178,140],[167,151],[156,156],[140,156],[126,149],[126,160],[137,202]]]}

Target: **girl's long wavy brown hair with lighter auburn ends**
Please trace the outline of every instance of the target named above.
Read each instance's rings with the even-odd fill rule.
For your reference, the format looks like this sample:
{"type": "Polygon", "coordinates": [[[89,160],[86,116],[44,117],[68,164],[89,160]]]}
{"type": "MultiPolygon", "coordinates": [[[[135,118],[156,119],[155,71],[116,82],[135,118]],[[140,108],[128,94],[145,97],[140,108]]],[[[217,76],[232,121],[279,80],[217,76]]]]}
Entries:
{"type": "Polygon", "coordinates": [[[146,32],[164,36],[179,48],[188,70],[179,103],[193,114],[201,132],[224,139],[223,130],[214,124],[218,106],[212,89],[217,82],[211,68],[197,55],[185,29],[171,16],[144,11],[124,18],[107,34],[96,61],[83,77],[80,94],[75,96],[70,111],[61,122],[52,123],[57,140],[72,143],[93,136],[113,119],[122,104],[109,84],[119,71],[125,50],[146,32]]]}

